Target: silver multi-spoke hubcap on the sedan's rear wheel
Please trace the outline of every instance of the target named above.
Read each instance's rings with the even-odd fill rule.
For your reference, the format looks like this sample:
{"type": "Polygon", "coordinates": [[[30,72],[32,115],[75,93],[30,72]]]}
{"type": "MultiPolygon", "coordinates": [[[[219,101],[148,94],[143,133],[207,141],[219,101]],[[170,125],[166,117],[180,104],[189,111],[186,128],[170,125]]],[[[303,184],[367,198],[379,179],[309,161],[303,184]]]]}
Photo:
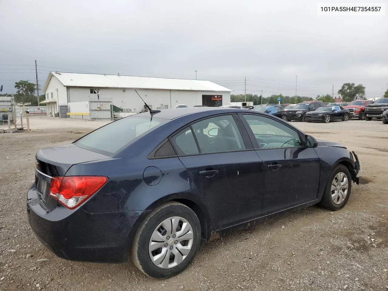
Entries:
{"type": "Polygon", "coordinates": [[[159,268],[173,268],[187,258],[193,241],[194,234],[187,220],[178,216],[167,218],[152,232],[149,257],[159,268]]]}

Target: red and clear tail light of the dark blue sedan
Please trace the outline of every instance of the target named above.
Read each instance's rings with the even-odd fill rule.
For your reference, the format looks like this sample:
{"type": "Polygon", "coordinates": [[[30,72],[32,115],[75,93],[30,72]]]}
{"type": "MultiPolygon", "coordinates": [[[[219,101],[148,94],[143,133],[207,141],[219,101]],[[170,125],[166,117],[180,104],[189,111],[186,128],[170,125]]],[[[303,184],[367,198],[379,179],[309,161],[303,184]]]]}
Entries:
{"type": "Polygon", "coordinates": [[[106,182],[105,176],[52,177],[50,196],[69,209],[78,207],[106,182]]]}

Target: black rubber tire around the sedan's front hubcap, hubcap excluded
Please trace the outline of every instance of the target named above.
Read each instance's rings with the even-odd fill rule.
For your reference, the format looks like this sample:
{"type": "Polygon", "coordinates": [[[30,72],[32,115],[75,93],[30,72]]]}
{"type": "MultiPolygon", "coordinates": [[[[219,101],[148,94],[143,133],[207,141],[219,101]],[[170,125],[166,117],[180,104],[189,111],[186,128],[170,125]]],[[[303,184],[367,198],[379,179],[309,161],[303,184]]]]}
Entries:
{"type": "Polygon", "coordinates": [[[333,173],[330,175],[329,181],[327,181],[325,191],[323,192],[322,200],[318,203],[318,205],[322,208],[327,208],[333,211],[340,210],[348,202],[351,190],[352,190],[352,176],[350,175],[348,168],[346,168],[346,166],[344,165],[337,165],[334,168],[333,173]],[[331,192],[332,192],[331,185],[333,183],[334,177],[336,177],[336,175],[340,172],[345,173],[348,179],[348,192],[347,192],[346,198],[343,200],[341,204],[335,204],[333,202],[333,199],[331,199],[331,192]]]}

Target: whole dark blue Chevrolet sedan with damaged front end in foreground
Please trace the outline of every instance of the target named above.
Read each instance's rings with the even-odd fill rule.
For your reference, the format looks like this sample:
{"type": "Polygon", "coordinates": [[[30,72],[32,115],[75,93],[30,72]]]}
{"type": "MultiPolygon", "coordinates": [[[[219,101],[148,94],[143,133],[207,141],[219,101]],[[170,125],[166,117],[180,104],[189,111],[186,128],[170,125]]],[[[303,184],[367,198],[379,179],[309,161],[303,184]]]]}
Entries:
{"type": "Polygon", "coordinates": [[[357,155],[252,110],[141,113],[36,154],[31,228],[57,256],[181,272],[203,242],[319,203],[341,209],[357,155]]]}

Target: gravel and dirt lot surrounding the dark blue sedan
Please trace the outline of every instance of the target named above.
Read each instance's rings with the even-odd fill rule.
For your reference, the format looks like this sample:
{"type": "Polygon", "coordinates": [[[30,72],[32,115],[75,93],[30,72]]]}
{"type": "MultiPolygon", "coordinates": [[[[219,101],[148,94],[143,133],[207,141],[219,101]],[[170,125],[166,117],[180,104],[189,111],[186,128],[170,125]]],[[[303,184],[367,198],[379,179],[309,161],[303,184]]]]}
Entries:
{"type": "Polygon", "coordinates": [[[39,130],[0,134],[0,290],[388,289],[388,126],[381,122],[293,122],[359,154],[364,172],[347,206],[334,213],[310,207],[213,241],[168,280],[149,279],[132,263],[62,260],[38,242],[25,205],[35,152],[105,122],[33,117],[30,123],[39,130]]]}

